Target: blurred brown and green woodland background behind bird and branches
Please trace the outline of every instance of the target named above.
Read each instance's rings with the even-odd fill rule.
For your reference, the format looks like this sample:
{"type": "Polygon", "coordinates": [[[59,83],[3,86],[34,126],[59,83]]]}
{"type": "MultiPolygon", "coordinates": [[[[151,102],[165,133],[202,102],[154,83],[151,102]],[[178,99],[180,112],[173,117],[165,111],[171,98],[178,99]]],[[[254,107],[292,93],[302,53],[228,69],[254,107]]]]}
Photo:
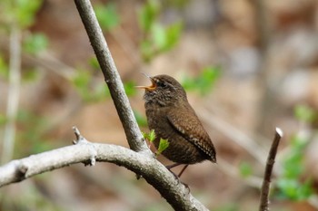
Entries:
{"type": "MultiPolygon", "coordinates": [[[[271,208],[318,209],[318,1],[92,1],[134,114],[140,73],[169,74],[217,150],[182,181],[214,211],[256,210],[275,127],[284,137],[271,208]]],[[[73,1],[0,3],[0,161],[86,139],[128,147],[73,1]]],[[[159,157],[164,164],[168,160],[159,157]]],[[[175,169],[178,172],[180,168],[175,169]]],[[[0,210],[172,210],[109,163],[57,169],[0,189],[0,210]]]]}

